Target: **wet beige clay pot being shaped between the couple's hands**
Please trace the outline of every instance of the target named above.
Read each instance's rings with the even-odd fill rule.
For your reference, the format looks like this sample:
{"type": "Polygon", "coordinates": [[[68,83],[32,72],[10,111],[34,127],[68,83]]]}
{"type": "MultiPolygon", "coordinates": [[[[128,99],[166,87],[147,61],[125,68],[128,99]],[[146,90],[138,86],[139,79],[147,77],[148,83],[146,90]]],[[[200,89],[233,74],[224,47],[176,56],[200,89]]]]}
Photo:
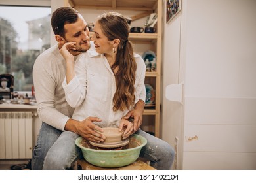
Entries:
{"type": "Polygon", "coordinates": [[[102,129],[103,129],[102,134],[105,135],[106,137],[104,141],[105,144],[122,141],[123,130],[119,131],[119,128],[117,127],[103,127],[102,129]]]}

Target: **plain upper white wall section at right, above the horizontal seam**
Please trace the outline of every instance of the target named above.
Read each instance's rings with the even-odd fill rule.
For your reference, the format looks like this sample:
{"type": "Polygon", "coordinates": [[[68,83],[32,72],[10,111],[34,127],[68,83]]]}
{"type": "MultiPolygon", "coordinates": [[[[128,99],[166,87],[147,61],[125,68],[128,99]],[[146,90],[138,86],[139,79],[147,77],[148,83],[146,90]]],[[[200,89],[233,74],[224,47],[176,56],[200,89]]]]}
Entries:
{"type": "Polygon", "coordinates": [[[253,0],[188,1],[186,95],[256,97],[249,83],[256,68],[255,8],[253,0]]]}

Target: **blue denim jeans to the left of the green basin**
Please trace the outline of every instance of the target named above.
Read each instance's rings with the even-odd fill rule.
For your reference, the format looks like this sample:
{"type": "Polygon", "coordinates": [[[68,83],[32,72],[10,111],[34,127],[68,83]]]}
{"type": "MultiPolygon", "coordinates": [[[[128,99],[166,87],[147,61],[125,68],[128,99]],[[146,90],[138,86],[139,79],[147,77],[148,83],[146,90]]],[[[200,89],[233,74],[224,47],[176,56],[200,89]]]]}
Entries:
{"type": "Polygon", "coordinates": [[[75,145],[78,137],[76,133],[60,131],[43,122],[33,149],[32,169],[69,169],[82,156],[81,150],[75,145]]]}

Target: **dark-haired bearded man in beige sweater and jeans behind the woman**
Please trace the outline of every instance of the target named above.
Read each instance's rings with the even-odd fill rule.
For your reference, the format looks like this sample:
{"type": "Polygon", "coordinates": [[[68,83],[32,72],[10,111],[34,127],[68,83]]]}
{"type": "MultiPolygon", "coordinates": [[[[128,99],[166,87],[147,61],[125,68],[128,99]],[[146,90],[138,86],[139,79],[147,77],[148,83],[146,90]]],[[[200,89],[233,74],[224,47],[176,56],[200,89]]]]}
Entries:
{"type": "MultiPolygon", "coordinates": [[[[91,134],[95,133],[95,129],[99,129],[93,122],[100,122],[100,119],[96,117],[89,117],[81,122],[72,119],[74,108],[66,102],[62,88],[66,75],[66,61],[59,50],[66,42],[76,42],[75,50],[70,50],[74,56],[90,49],[89,29],[85,20],[74,8],[61,7],[53,12],[51,25],[58,45],[43,52],[33,67],[37,111],[43,124],[33,150],[32,169],[70,168],[81,155],[81,151],[75,146],[75,139],[81,136],[93,140],[90,139],[91,134]]],[[[134,131],[137,131],[142,123],[143,110],[144,102],[139,101],[135,105],[135,110],[130,111],[126,116],[127,119],[133,118],[134,131]]],[[[148,137],[148,134],[143,131],[142,133],[144,134],[139,135],[146,136],[148,141],[157,139],[153,136],[148,137]]],[[[104,141],[103,136],[95,135],[100,137],[100,141],[104,141]]],[[[160,169],[169,169],[173,162],[173,150],[166,142],[162,147],[163,151],[171,152],[167,158],[161,159],[162,155],[157,155],[158,152],[150,147],[142,150],[142,156],[152,161],[152,165],[159,166],[160,169]],[[163,165],[167,163],[169,165],[163,165]]]]}

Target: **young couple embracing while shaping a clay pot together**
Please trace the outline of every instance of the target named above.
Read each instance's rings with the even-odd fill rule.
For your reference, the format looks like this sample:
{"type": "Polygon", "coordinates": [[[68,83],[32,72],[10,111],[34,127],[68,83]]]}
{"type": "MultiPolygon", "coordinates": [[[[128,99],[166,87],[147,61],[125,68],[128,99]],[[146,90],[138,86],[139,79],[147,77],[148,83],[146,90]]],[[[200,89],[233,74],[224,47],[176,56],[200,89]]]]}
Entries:
{"type": "Polygon", "coordinates": [[[69,169],[81,157],[75,139],[102,142],[100,127],[125,129],[148,141],[140,156],[156,169],[170,169],[173,148],[141,129],[145,100],[145,65],[133,54],[129,25],[116,12],[95,22],[91,46],[87,23],[77,10],[61,7],[51,25],[58,44],[35,61],[37,110],[43,121],[33,149],[32,169],[69,169]],[[129,118],[133,118],[133,123],[129,118]]]}

